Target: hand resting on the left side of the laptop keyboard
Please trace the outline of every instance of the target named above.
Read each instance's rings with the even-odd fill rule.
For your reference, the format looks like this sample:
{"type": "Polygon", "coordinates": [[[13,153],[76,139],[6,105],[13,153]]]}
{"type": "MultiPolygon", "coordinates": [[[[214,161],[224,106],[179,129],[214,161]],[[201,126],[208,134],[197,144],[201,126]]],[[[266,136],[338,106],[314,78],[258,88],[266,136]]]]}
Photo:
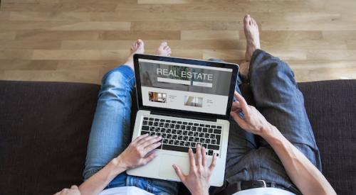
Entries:
{"type": "Polygon", "coordinates": [[[146,165],[157,156],[155,152],[150,152],[161,145],[159,140],[162,140],[162,138],[157,135],[140,135],[117,157],[118,165],[124,169],[146,165]]]}

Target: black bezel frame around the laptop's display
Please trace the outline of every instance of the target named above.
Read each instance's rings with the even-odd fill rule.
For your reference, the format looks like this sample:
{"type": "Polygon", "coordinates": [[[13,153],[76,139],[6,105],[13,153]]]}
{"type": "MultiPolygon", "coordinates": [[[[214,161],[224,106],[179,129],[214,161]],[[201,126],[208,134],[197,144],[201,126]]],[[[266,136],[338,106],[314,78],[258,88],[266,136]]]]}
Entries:
{"type": "Polygon", "coordinates": [[[137,104],[139,110],[149,110],[149,111],[161,111],[161,112],[175,112],[180,113],[182,115],[199,115],[201,117],[213,117],[213,118],[229,118],[232,101],[234,99],[234,91],[236,85],[237,75],[239,73],[239,65],[228,63],[228,62],[216,62],[216,61],[207,61],[207,60],[193,60],[187,58],[179,58],[179,57],[164,57],[159,55],[145,55],[145,54],[135,54],[134,55],[134,67],[135,67],[135,79],[136,79],[136,93],[137,93],[137,104]],[[144,106],[142,104],[142,91],[141,91],[141,82],[140,82],[140,67],[139,67],[139,59],[145,60],[157,60],[163,62],[177,62],[187,65],[202,65],[202,66],[210,66],[210,67],[221,67],[221,68],[229,68],[232,69],[231,74],[231,82],[229,89],[229,99],[226,107],[225,115],[214,114],[214,113],[201,113],[197,111],[183,111],[172,108],[158,108],[153,106],[144,106]]]}

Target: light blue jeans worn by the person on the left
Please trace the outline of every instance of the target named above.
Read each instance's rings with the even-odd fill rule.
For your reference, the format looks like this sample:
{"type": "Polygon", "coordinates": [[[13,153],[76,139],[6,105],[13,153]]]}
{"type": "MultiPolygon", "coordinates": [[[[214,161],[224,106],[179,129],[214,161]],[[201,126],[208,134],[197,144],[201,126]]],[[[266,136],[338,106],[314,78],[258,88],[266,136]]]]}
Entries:
{"type": "MultiPolygon", "coordinates": [[[[125,150],[131,141],[130,108],[135,74],[122,65],[105,74],[98,96],[85,160],[84,179],[102,169],[125,150]]],[[[133,177],[125,172],[117,175],[107,188],[137,186],[152,194],[178,194],[179,183],[159,179],[133,177]]]]}

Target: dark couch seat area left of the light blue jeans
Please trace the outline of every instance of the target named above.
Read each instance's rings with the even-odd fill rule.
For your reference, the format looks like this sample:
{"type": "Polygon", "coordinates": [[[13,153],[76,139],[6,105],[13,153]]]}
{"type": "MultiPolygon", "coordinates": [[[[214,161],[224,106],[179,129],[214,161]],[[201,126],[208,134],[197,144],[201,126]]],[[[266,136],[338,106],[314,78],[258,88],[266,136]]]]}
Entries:
{"type": "Polygon", "coordinates": [[[100,86],[0,81],[1,194],[80,184],[100,86]]]}

